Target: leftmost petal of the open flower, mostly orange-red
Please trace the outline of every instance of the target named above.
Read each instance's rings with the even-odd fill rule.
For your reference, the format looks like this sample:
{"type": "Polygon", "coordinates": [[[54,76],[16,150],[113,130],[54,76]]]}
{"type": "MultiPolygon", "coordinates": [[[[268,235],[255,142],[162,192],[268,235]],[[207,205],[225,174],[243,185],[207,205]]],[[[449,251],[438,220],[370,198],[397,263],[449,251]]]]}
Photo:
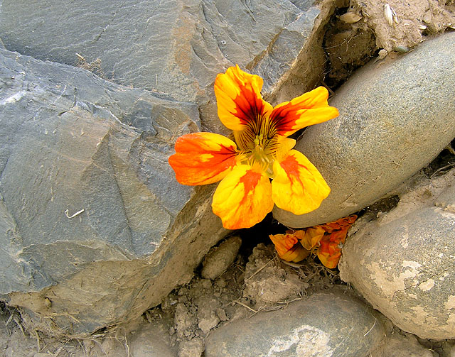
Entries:
{"type": "Polygon", "coordinates": [[[235,143],[215,133],[190,133],[176,141],[168,159],[182,185],[207,185],[220,181],[237,163],[235,143]]]}

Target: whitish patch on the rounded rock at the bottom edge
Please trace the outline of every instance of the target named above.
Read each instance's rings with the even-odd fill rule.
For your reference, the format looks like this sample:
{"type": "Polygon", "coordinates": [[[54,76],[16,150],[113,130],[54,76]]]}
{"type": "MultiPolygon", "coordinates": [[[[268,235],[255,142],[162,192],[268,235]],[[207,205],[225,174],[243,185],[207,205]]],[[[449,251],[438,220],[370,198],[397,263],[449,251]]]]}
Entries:
{"type": "Polygon", "coordinates": [[[326,332],[314,326],[303,325],[293,329],[289,336],[274,339],[267,355],[261,357],[277,356],[277,352],[289,351],[294,346],[296,356],[332,356],[333,350],[328,346],[329,341],[330,337],[326,332]]]}

